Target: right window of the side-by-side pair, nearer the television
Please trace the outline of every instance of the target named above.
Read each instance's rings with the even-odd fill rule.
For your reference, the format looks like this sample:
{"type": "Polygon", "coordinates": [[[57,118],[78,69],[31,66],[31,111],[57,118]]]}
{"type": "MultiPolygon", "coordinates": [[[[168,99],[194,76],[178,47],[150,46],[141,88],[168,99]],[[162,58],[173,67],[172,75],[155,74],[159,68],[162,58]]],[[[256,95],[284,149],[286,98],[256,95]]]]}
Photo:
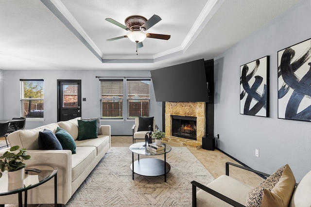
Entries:
{"type": "Polygon", "coordinates": [[[127,80],[127,118],[149,116],[150,80],[127,80]]]}

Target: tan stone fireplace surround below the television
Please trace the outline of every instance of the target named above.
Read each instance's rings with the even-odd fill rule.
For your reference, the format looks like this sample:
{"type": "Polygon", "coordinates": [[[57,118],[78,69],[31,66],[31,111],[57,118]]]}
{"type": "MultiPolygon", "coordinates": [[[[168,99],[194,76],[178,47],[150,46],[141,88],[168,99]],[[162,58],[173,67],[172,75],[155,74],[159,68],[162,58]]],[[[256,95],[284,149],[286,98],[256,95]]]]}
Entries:
{"type": "Polygon", "coordinates": [[[172,115],[196,117],[196,140],[202,142],[205,135],[205,102],[165,102],[165,134],[172,136],[172,115]]]}

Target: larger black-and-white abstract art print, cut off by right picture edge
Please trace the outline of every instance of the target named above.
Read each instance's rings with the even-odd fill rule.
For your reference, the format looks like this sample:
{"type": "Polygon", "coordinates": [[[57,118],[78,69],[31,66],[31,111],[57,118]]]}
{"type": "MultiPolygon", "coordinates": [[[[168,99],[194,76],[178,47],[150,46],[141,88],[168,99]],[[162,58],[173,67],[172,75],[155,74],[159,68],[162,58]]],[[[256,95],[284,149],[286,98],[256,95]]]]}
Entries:
{"type": "Polygon", "coordinates": [[[277,52],[278,118],[311,121],[311,39],[277,52]]]}

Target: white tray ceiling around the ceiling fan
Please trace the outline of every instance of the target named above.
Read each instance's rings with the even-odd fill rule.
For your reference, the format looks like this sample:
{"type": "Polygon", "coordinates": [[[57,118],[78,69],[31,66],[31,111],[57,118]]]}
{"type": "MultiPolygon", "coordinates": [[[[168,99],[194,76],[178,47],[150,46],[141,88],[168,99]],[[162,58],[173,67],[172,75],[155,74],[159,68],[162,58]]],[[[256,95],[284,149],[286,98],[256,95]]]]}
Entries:
{"type": "Polygon", "coordinates": [[[156,69],[213,59],[300,0],[1,0],[0,69],[156,69]],[[124,24],[131,15],[162,18],[143,48],[124,24]]]}

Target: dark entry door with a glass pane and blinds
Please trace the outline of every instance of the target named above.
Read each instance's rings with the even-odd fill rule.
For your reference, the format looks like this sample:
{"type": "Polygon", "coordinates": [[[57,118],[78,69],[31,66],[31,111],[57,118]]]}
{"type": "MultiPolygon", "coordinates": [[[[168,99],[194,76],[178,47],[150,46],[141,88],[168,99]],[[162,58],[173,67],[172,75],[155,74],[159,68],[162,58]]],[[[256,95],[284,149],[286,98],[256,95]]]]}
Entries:
{"type": "Polygon", "coordinates": [[[81,80],[57,80],[57,121],[81,116],[81,80]]]}

